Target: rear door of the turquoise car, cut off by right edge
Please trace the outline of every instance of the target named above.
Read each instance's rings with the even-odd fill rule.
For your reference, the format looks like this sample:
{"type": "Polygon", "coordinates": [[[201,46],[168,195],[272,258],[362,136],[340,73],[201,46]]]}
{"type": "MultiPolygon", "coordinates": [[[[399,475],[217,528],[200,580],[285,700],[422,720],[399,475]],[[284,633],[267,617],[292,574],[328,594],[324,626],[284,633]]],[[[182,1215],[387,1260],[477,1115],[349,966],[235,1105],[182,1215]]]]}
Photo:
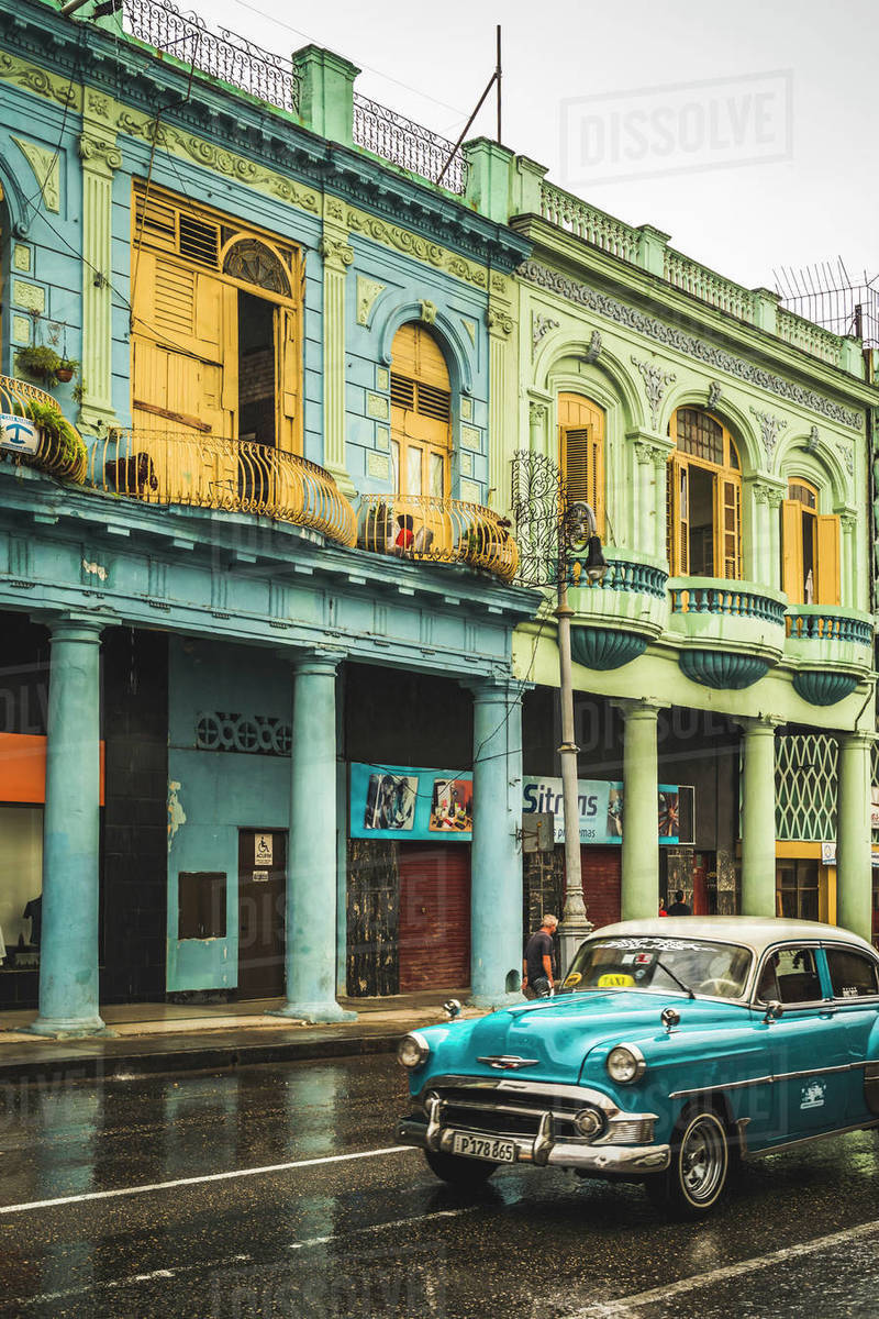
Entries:
{"type": "MultiPolygon", "coordinates": [[[[846,1076],[846,1125],[879,1116],[875,1082],[866,1086],[871,1033],[879,1020],[879,963],[866,948],[825,944],[826,969],[837,1020],[845,1029],[849,1063],[846,1076]],[[872,1105],[872,1107],[871,1107],[872,1105]]],[[[872,1079],[872,1078],[871,1078],[872,1079]]]]}

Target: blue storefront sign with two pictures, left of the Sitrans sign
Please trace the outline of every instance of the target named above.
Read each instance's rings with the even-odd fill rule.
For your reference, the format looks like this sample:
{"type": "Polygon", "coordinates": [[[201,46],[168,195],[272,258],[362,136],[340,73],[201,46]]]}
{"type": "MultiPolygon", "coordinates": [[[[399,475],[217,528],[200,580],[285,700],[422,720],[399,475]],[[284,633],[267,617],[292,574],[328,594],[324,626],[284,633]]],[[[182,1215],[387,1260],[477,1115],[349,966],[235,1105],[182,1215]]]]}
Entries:
{"type": "Polygon", "coordinates": [[[351,766],[351,838],[469,843],[473,776],[410,765],[351,766]]]}

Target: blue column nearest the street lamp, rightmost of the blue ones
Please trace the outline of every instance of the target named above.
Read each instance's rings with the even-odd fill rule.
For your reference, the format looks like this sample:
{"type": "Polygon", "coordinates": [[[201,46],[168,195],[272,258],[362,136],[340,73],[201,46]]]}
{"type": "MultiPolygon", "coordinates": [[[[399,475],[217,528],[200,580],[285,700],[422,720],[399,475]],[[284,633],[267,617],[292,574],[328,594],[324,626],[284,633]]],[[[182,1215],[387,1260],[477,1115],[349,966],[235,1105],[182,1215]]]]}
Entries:
{"type": "Polygon", "coordinates": [[[473,685],[470,1002],[521,1002],[522,685],[473,685]]]}

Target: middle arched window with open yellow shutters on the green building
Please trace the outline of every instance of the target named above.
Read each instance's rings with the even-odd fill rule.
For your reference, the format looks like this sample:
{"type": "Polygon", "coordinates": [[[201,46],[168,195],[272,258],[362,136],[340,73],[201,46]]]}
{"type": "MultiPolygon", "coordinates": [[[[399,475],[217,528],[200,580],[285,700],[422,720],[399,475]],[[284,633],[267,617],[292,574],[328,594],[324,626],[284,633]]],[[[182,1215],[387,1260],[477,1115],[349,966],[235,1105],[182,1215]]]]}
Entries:
{"type": "Polygon", "coordinates": [[[733,437],[710,413],[679,408],[668,429],[668,562],[673,576],[741,578],[742,475],[733,437]]]}

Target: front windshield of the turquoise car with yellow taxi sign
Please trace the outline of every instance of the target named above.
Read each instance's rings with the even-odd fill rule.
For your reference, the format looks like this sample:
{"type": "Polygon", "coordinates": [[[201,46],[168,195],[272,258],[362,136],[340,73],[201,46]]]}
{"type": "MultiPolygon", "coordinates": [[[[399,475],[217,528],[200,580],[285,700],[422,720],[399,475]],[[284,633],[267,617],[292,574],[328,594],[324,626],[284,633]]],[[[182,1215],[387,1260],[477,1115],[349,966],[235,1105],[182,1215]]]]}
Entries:
{"type": "Polygon", "coordinates": [[[680,991],[684,985],[697,995],[741,998],[750,968],[750,950],[737,944],[650,935],[608,936],[582,944],[564,977],[561,992],[680,991]]]}

